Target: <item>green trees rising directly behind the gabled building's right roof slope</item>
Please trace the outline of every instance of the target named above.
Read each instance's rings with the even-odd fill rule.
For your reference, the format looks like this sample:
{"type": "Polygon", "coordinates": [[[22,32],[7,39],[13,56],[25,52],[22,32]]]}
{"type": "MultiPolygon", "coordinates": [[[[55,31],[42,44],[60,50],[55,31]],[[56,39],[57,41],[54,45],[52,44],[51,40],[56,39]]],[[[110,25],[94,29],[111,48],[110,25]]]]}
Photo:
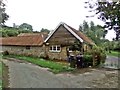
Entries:
{"type": "Polygon", "coordinates": [[[100,45],[107,34],[107,31],[105,31],[102,26],[94,25],[93,21],[90,22],[90,27],[87,22],[84,21],[83,25],[79,26],[79,30],[91,38],[96,45],[100,45]]]}

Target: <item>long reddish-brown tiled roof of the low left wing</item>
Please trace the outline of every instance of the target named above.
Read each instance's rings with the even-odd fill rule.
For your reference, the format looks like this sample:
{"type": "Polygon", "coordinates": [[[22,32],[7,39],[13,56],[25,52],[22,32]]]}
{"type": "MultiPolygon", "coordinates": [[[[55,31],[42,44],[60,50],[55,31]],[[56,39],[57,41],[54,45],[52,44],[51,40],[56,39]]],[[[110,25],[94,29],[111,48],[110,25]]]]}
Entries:
{"type": "Polygon", "coordinates": [[[46,37],[46,34],[41,33],[25,33],[17,37],[1,38],[0,45],[39,46],[43,44],[46,37]]]}

